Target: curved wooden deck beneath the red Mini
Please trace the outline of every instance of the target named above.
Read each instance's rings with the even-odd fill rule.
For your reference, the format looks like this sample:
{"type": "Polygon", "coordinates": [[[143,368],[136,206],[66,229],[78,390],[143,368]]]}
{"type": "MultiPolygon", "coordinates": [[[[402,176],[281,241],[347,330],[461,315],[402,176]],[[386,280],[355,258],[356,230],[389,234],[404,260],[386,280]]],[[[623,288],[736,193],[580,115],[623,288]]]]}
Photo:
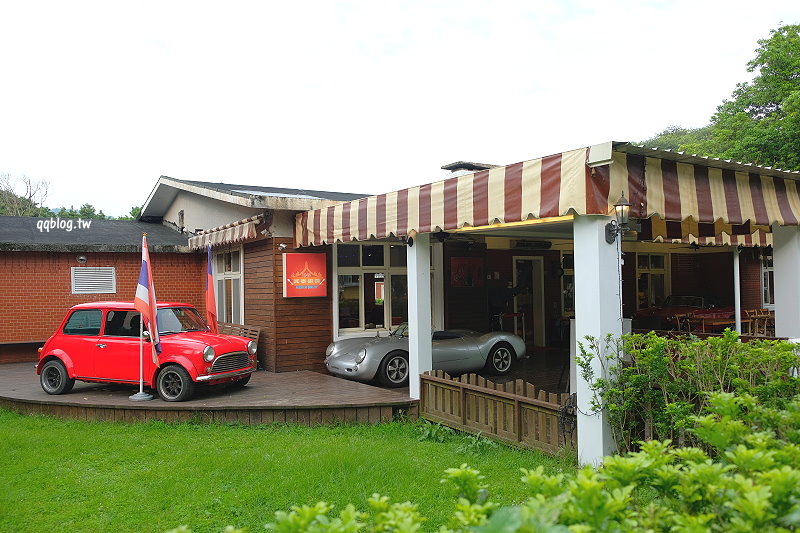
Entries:
{"type": "Polygon", "coordinates": [[[325,425],[388,422],[401,413],[416,417],[418,409],[408,389],[382,389],[311,371],[260,371],[243,389],[201,388],[180,403],[158,397],[128,400],[137,391],[129,385],[76,382],[69,394],[51,396],[39,385],[33,363],[0,365],[0,407],[80,420],[325,425]]]}

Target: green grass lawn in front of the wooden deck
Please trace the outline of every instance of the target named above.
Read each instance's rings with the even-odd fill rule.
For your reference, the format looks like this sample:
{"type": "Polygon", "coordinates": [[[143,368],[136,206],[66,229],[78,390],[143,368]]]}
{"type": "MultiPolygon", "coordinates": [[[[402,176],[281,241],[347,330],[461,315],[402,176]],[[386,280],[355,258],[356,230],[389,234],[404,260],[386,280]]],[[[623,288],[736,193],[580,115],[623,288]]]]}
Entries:
{"type": "Polygon", "coordinates": [[[527,496],[520,467],[575,469],[462,435],[421,441],[419,426],[123,425],[0,410],[0,530],[262,531],[277,510],[319,500],[366,510],[373,492],[417,503],[435,530],[455,503],[439,483],[446,468],[479,469],[502,504],[527,496]]]}

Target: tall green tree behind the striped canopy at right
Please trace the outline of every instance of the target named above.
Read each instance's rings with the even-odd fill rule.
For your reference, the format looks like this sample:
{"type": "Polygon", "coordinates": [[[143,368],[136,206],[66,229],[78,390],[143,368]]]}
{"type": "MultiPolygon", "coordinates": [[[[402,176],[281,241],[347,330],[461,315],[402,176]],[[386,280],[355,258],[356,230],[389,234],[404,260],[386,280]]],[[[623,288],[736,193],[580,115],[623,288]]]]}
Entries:
{"type": "Polygon", "coordinates": [[[707,128],[671,126],[645,144],[678,140],[678,149],[693,154],[800,169],[800,25],[772,30],[758,45],[747,64],[756,76],[736,86],[707,128]]]}

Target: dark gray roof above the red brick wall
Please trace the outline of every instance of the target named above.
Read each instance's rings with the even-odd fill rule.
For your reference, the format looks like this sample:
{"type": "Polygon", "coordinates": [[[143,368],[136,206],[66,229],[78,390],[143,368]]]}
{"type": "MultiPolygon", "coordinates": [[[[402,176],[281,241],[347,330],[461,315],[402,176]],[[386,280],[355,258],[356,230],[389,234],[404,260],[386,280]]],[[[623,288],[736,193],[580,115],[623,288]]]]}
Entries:
{"type": "Polygon", "coordinates": [[[162,224],[57,217],[0,217],[0,251],[140,252],[142,233],[151,252],[190,251],[188,235],[162,224]]]}

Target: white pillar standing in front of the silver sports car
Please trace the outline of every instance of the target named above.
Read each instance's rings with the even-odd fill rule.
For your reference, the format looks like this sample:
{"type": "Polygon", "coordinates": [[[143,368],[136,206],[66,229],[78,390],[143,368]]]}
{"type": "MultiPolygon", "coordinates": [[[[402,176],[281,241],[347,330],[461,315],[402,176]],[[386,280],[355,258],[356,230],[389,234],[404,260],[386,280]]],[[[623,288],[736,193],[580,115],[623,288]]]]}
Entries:
{"type": "Polygon", "coordinates": [[[431,356],[430,234],[414,237],[408,246],[408,394],[420,398],[419,375],[433,368],[431,356]]]}

